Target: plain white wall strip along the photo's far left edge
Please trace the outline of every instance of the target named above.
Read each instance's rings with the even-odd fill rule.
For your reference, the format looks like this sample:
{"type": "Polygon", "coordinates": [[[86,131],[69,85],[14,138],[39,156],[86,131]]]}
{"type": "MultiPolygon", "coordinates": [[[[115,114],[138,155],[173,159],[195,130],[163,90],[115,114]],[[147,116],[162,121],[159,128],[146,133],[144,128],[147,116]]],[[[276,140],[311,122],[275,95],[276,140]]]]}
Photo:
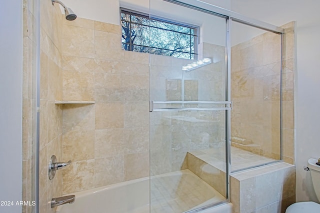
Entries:
{"type": "Polygon", "coordinates": [[[22,199],[22,1],[0,6],[0,212],[18,213],[22,199]]]}

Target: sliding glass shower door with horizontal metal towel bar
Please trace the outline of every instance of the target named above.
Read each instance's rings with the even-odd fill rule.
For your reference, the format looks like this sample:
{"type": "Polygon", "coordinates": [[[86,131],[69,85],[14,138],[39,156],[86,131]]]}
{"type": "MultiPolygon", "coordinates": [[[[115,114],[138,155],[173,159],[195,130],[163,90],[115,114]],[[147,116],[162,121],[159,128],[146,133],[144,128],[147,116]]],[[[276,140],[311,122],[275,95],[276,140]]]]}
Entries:
{"type": "Polygon", "coordinates": [[[228,197],[227,19],[150,0],[150,22],[150,212],[189,212],[228,197]]]}

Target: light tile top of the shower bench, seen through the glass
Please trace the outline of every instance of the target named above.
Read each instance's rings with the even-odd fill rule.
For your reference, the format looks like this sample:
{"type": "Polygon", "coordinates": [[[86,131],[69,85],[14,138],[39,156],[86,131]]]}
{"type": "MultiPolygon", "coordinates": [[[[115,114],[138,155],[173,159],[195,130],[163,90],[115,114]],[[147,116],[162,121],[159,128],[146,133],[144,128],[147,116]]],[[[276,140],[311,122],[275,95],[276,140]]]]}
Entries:
{"type": "MultiPolygon", "coordinates": [[[[189,153],[215,168],[225,171],[225,156],[220,156],[220,153],[217,153],[216,149],[196,150],[189,153]]],[[[273,161],[275,160],[231,146],[231,171],[266,164],[273,161]]]]}

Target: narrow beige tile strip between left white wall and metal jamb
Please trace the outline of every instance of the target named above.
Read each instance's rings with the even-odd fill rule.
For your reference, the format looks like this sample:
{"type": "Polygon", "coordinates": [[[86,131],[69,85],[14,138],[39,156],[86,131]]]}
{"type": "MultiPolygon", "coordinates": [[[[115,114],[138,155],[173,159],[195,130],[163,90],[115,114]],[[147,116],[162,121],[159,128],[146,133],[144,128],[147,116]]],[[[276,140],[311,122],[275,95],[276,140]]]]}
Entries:
{"type": "MultiPolygon", "coordinates": [[[[35,96],[33,87],[33,7],[31,0],[23,0],[23,70],[22,70],[22,200],[32,201],[32,142],[35,138],[35,96]]],[[[30,206],[22,206],[22,213],[31,213],[30,206]]]]}

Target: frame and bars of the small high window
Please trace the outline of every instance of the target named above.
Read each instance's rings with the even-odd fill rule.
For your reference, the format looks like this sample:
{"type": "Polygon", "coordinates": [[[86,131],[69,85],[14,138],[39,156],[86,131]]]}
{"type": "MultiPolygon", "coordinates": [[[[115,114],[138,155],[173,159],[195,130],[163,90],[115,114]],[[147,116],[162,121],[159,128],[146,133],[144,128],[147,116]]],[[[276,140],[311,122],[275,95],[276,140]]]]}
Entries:
{"type": "MultiPolygon", "coordinates": [[[[184,58],[184,59],[194,59],[194,60],[197,59],[197,56],[198,56],[197,49],[198,49],[198,44],[199,44],[199,26],[193,25],[193,24],[184,23],[184,22],[179,22],[179,21],[172,20],[172,19],[169,19],[169,18],[150,15],[150,14],[147,14],[147,13],[144,13],[144,12],[139,12],[139,11],[128,9],[128,8],[124,8],[124,7],[120,7],[120,25],[121,26],[122,26],[122,21],[128,22],[129,26],[131,26],[131,23],[133,23],[133,24],[138,24],[138,25],[144,25],[144,26],[147,26],[147,27],[157,28],[159,30],[172,31],[172,32],[175,32],[175,33],[180,33],[180,34],[185,34],[185,35],[190,36],[190,45],[189,45],[190,51],[188,51],[188,52],[179,51],[179,50],[172,50],[172,49],[165,49],[165,48],[159,48],[159,47],[152,47],[150,45],[145,46],[145,45],[134,44],[131,41],[131,35],[130,35],[129,43],[121,41],[121,45],[127,44],[129,46],[129,49],[127,49],[126,51],[134,51],[133,50],[133,46],[141,46],[141,47],[149,48],[149,50],[147,51],[147,53],[149,53],[149,54],[155,54],[155,53],[150,53],[150,48],[152,48],[152,49],[161,49],[161,50],[165,50],[165,51],[180,52],[180,53],[188,54],[189,57],[188,58],[186,58],[186,57],[176,57],[176,56],[173,56],[173,55],[166,55],[166,54],[159,54],[159,55],[165,55],[165,56],[176,57],[176,58],[184,58]],[[138,17],[147,18],[149,20],[159,21],[159,22],[162,22],[162,23],[168,23],[168,24],[173,24],[173,25],[177,25],[177,26],[187,27],[187,28],[190,29],[190,33],[185,33],[185,32],[165,29],[165,28],[156,27],[156,26],[149,26],[149,25],[145,25],[145,24],[139,24],[139,23],[132,22],[131,19],[129,21],[122,20],[122,13],[129,14],[129,15],[135,15],[135,16],[138,16],[138,17]],[[193,32],[194,32],[193,34],[191,33],[191,30],[193,30],[193,32]],[[192,43],[191,37],[192,36],[193,36],[193,46],[191,45],[191,43],[192,43]],[[192,51],[192,48],[193,48],[193,51],[192,51]],[[192,58],[192,56],[193,56],[193,58],[192,58]]],[[[131,30],[129,30],[129,31],[131,33],[131,30]]],[[[123,34],[122,34],[122,27],[121,27],[121,36],[122,35],[123,34]]],[[[136,51],[136,52],[140,52],[140,51],[136,51]]]]}

